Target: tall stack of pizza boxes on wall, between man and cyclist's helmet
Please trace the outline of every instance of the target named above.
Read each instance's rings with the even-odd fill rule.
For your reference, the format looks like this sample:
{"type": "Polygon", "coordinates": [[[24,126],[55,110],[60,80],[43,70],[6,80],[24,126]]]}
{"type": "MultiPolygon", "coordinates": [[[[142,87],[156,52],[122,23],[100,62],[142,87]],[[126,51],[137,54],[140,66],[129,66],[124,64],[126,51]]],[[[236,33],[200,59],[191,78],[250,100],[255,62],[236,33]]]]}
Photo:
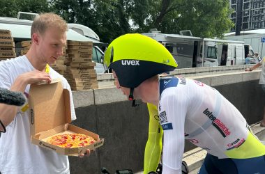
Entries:
{"type": "Polygon", "coordinates": [[[72,90],[86,90],[98,88],[97,74],[92,62],[93,42],[80,42],[68,40],[66,52],[67,70],[63,74],[72,90]]]}

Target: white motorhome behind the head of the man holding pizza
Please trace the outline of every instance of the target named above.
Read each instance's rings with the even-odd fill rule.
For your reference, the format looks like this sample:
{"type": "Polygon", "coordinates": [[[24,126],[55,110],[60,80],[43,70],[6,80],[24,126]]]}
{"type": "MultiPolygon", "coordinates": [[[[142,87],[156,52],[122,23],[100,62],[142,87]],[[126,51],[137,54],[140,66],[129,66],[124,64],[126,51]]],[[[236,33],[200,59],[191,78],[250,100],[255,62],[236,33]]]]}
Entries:
{"type": "MultiPolygon", "coordinates": [[[[31,40],[31,24],[37,15],[37,13],[18,12],[17,18],[0,17],[0,29],[10,30],[15,43],[31,40]]],[[[96,73],[104,73],[104,52],[100,49],[100,46],[105,45],[105,43],[100,42],[98,35],[87,26],[71,23],[68,24],[68,31],[66,34],[68,40],[93,42],[92,61],[96,63],[96,73]]]]}

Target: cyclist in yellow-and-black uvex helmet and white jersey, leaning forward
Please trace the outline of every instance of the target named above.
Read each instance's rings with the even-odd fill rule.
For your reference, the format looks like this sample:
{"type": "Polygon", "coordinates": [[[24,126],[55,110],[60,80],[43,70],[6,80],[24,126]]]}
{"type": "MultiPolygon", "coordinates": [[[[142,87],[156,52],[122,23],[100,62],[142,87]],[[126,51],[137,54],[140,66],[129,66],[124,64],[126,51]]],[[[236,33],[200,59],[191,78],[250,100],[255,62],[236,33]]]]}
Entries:
{"type": "Polygon", "coordinates": [[[129,100],[158,106],[162,173],[181,173],[185,139],[208,152],[199,173],[265,173],[265,146],[218,90],[196,80],[158,75],[177,66],[159,42],[122,35],[107,47],[104,63],[129,100]]]}

